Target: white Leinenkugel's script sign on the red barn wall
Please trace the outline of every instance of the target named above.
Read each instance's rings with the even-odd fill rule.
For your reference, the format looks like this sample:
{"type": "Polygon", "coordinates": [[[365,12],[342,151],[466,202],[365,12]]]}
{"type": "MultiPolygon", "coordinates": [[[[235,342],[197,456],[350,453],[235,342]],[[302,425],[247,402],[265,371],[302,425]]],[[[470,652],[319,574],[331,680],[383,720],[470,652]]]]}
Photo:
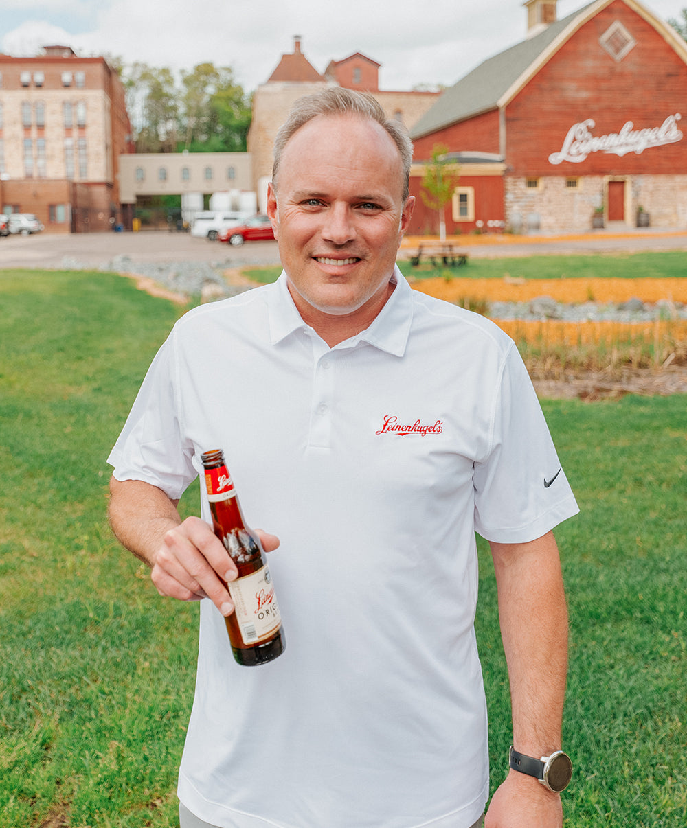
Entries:
{"type": "Polygon", "coordinates": [[[594,126],[592,118],[574,123],[568,129],[563,147],[560,152],[549,155],[550,164],[560,164],[562,161],[572,161],[580,164],[590,152],[607,152],[617,156],[634,152],[640,155],[649,147],[663,147],[665,144],[674,144],[682,139],[682,132],[677,123],[682,118],[679,112],[669,115],[660,127],[647,129],[633,129],[634,123],[626,121],[620,132],[610,132],[608,135],[594,136],[590,130],[594,126]]]}

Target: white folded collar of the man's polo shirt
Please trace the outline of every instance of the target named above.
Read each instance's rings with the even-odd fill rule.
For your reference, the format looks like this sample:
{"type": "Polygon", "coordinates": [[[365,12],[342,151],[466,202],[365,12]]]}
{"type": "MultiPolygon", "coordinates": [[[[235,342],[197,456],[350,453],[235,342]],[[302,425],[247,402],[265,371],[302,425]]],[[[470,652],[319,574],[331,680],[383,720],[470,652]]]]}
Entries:
{"type": "MultiPolygon", "coordinates": [[[[358,342],[367,342],[394,356],[403,356],[405,353],[413,321],[412,293],[398,267],[394,268],[391,282],[394,282],[396,287],[385,306],[369,328],[346,340],[349,347],[358,342]]],[[[287,276],[283,271],[274,283],[273,291],[269,293],[268,313],[272,344],[281,342],[288,335],[303,328],[302,317],[288,291],[287,276]]]]}

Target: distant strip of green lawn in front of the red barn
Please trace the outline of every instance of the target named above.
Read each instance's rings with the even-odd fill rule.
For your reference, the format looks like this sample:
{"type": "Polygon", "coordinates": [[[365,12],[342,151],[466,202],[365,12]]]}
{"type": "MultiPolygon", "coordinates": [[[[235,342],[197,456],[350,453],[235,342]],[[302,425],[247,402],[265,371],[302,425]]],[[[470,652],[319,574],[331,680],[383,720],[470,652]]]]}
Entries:
{"type": "MultiPolygon", "coordinates": [[[[468,254],[470,249],[466,248],[468,254]]],[[[401,251],[410,255],[410,251],[401,251]]],[[[445,277],[447,274],[471,279],[573,279],[614,277],[639,279],[659,277],[684,277],[685,253],[608,254],[605,256],[526,256],[513,258],[477,258],[472,256],[466,267],[432,267],[423,264],[413,267],[407,259],[399,260],[404,276],[418,279],[445,277]]],[[[246,276],[255,282],[273,282],[281,267],[249,267],[246,276]]]]}

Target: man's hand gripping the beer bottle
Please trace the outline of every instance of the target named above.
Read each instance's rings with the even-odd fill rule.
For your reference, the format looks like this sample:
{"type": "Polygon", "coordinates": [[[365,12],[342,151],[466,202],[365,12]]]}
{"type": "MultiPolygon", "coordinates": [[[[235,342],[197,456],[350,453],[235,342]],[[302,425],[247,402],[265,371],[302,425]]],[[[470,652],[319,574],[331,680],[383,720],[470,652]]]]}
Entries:
{"type": "MultiPolygon", "coordinates": [[[[279,546],[278,537],[255,530],[265,551],[279,546]]],[[[238,571],[215,532],[200,517],[186,517],[162,538],[152,562],[152,583],[160,595],[181,601],[209,598],[223,615],[234,612],[225,583],[238,571]]]]}

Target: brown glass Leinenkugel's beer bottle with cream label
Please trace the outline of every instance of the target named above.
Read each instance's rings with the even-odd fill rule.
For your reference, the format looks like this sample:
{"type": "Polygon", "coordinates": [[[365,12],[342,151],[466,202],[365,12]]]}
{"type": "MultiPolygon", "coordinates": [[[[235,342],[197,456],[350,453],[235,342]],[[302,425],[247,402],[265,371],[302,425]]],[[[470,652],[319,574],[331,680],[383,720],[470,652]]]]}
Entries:
{"type": "Polygon", "coordinates": [[[245,524],[222,450],[206,451],[201,460],[212,527],[239,570],[239,577],[227,585],[235,606],[225,618],[231,650],[239,664],[265,664],[283,653],[286,639],[264,550],[245,524]]]}

